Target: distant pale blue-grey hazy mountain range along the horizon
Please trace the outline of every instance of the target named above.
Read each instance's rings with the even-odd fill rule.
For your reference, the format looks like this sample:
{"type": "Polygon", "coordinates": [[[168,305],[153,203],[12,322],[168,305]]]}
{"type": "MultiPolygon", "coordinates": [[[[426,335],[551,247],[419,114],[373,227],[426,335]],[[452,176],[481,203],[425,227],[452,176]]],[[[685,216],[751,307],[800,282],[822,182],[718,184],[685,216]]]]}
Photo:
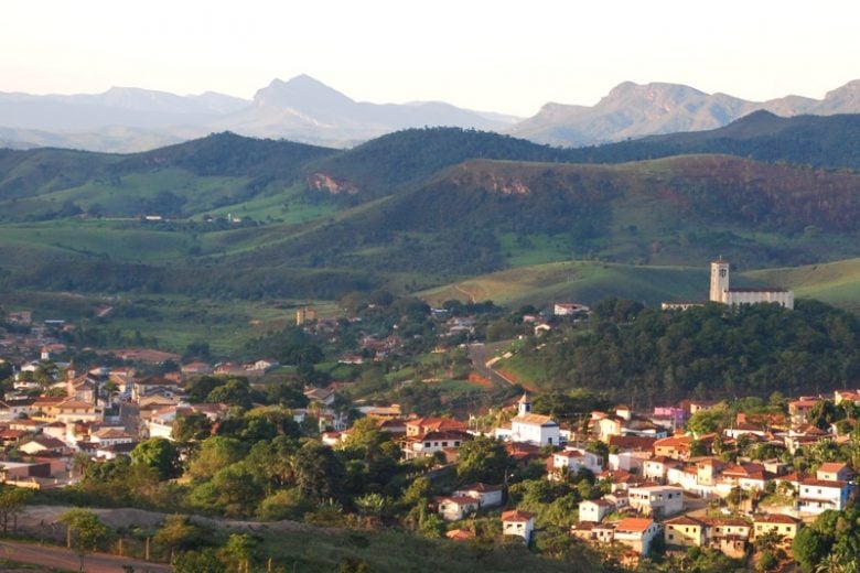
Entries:
{"type": "Polygon", "coordinates": [[[525,120],[438,101],[355,101],[307,75],[288,82],[275,79],[252,100],[212,91],[176,96],[122,87],[96,95],[0,93],[0,147],[130,152],[229,130],[348,148],[385,133],[426,126],[473,128],[539,143],[583,147],[714,129],[761,109],[784,117],[857,113],[860,80],[834,89],[821,100],[786,96],[763,102],[676,84],[625,82],[594,106],[547,104],[525,120]]]}

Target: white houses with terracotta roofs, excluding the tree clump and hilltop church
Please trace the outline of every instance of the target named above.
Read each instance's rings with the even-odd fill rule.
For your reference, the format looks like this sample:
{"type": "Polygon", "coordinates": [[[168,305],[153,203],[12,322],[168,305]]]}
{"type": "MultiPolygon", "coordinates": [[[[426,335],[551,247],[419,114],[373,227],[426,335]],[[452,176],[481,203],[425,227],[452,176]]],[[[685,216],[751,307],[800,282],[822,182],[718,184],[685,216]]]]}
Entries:
{"type": "MultiPolygon", "coordinates": [[[[300,322],[322,326],[302,312],[300,322]]],[[[584,314],[588,307],[558,304],[555,312],[584,314]]],[[[463,324],[458,321],[453,328],[463,324]]],[[[133,366],[78,371],[74,363],[52,363],[52,353],[63,345],[33,331],[26,342],[42,345],[40,360],[14,365],[13,385],[0,401],[6,450],[0,471],[4,484],[21,488],[74,484],[80,479],[82,456],[105,463],[130,456],[143,441],[175,440],[176,421],[187,417],[205,417],[214,433],[233,407],[189,400],[191,381],[201,376],[254,379],[278,367],[264,359],[244,365],[194,360],[161,376],[141,376],[133,366]]],[[[384,354],[398,346],[395,339],[362,344],[365,357],[368,349],[384,354]]],[[[140,364],[178,357],[128,352],[125,358],[140,364]]],[[[724,414],[725,404],[694,399],[647,412],[627,406],[595,410],[573,424],[536,413],[525,392],[491,409],[496,422],[479,429],[474,417],[419,417],[394,403],[344,404],[336,383],[309,387],[304,397],[308,406],[291,409],[292,420],[333,448],[348,443],[354,420],[366,418],[397,444],[404,461],[432,460],[429,475],[456,466],[464,444],[490,439],[504,444],[510,467],[538,465],[549,483],[588,476],[595,487],[568,516],[567,534],[601,551],[617,548],[617,559],[627,566],[655,548],[711,548],[745,559],[762,550],[761,540],[789,560],[792,541],[805,525],[826,510],[843,510],[857,496],[849,463],[810,460],[806,453],[853,444],[853,426],[816,421],[827,408],[860,407],[860,390],[786,399],[766,413],[739,411],[716,431],[702,431],[696,421],[724,414]]],[[[436,496],[430,507],[451,523],[445,536],[454,541],[474,538],[464,527],[474,516],[497,519],[503,537],[525,544],[546,533],[534,511],[513,501],[505,480],[460,485],[436,496]]]]}

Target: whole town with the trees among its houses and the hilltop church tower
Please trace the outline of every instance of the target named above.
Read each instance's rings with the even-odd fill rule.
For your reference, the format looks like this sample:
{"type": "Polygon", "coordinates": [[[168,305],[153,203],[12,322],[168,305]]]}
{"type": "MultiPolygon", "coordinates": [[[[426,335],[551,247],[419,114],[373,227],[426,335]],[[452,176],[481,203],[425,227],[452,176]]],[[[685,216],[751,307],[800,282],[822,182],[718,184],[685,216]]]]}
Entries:
{"type": "MultiPolygon", "coordinates": [[[[714,282],[724,279],[728,292],[725,268],[712,263],[712,300],[714,282]]],[[[795,555],[795,539],[857,497],[860,390],[689,397],[647,410],[588,392],[547,392],[498,367],[510,350],[490,356],[474,339],[480,313],[453,314],[428,313],[441,333],[430,355],[460,353],[458,376],[485,393],[494,389],[501,401],[450,403],[440,414],[441,402],[428,411],[418,401],[354,399],[361,377],[272,382],[287,367],[270,356],[209,364],[130,348],[111,352],[110,364],[79,367],[57,359],[71,355],[61,340],[74,325],[9,312],[0,340],[0,368],[9,376],[0,402],[3,487],[40,496],[74,491],[66,499],[78,501],[117,495],[121,501],[111,502],[159,507],[175,483],[185,500],[174,502],[189,515],[196,508],[358,529],[399,522],[453,543],[519,543],[555,558],[588,551],[605,566],[674,570],[719,554],[729,561],[714,567],[760,571],[794,559],[808,563],[810,554],[795,555]],[[135,474],[141,465],[152,473],[135,474]],[[152,493],[122,490],[111,474],[152,493]],[[257,482],[264,485],[254,489],[257,482]],[[326,509],[329,502],[335,506],[326,509]]],[[[566,324],[581,328],[591,314],[578,303],[557,303],[547,314],[529,310],[518,337],[539,340],[566,324]]],[[[295,312],[297,329],[330,340],[348,324],[362,321],[295,312]]],[[[407,354],[397,332],[362,332],[353,336],[358,346],[341,354],[341,367],[407,354]]],[[[447,376],[453,368],[445,366],[447,376]]],[[[26,515],[20,504],[10,511],[26,515]]]]}

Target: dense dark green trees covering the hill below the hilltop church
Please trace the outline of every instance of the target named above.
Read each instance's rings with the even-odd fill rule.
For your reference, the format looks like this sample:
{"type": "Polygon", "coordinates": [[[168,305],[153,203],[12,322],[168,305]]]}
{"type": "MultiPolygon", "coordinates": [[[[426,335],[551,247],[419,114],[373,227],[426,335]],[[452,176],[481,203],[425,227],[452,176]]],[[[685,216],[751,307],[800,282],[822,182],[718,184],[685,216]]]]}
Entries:
{"type": "Polygon", "coordinates": [[[606,300],[589,327],[533,338],[518,359],[539,361],[547,387],[609,390],[646,407],[689,396],[842,388],[860,377],[858,339],[854,315],[811,301],[798,301],[794,311],[708,304],[667,313],[606,300]]]}

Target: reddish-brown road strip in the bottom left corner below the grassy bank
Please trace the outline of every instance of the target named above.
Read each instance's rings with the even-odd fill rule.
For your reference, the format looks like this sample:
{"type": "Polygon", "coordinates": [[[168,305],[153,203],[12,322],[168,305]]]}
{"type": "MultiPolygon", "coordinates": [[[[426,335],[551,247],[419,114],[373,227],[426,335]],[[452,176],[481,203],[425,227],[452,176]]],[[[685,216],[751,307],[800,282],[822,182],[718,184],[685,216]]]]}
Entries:
{"type": "MultiPolygon", "coordinates": [[[[19,543],[17,541],[0,541],[0,556],[21,563],[30,563],[44,567],[57,567],[78,571],[80,556],[69,549],[19,543]]],[[[161,563],[148,563],[105,553],[88,553],[84,558],[84,570],[87,573],[123,573],[131,565],[135,573],[170,573],[173,567],[161,563]]]]}

